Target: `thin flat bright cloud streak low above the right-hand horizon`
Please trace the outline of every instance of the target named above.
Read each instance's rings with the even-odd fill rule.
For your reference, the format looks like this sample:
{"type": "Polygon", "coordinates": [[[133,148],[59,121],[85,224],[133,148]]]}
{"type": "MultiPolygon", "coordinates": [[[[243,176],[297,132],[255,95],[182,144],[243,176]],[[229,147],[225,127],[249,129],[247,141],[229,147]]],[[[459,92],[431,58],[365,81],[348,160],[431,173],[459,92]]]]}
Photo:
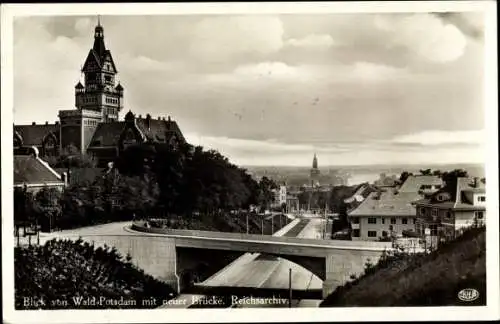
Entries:
{"type": "Polygon", "coordinates": [[[484,130],[466,131],[441,131],[429,130],[416,134],[397,136],[392,142],[399,144],[420,145],[450,145],[450,144],[475,144],[482,145],[486,142],[484,130]]]}

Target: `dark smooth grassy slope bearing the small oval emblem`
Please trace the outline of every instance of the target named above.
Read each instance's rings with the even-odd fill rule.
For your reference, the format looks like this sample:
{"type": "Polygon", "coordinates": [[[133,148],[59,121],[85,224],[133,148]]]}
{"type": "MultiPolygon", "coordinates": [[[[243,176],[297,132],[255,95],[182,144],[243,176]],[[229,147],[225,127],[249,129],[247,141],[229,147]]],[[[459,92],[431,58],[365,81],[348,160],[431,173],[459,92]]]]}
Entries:
{"type": "Polygon", "coordinates": [[[338,287],[321,307],[485,305],[485,239],[485,229],[474,228],[428,255],[383,257],[363,276],[338,287]],[[478,290],[479,298],[461,301],[457,294],[464,288],[478,290]]]}

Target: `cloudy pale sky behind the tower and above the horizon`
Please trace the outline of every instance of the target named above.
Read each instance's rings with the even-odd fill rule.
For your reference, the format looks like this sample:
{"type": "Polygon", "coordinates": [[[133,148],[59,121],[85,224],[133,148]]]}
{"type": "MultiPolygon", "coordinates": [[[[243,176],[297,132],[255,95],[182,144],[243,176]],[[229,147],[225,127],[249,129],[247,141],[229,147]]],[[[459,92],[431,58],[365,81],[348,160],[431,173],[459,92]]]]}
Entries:
{"type": "MultiPolygon", "coordinates": [[[[14,22],[14,122],[57,120],[96,16],[14,22]]],[[[239,165],[482,163],[483,16],[101,16],[125,109],[239,165]]]]}

